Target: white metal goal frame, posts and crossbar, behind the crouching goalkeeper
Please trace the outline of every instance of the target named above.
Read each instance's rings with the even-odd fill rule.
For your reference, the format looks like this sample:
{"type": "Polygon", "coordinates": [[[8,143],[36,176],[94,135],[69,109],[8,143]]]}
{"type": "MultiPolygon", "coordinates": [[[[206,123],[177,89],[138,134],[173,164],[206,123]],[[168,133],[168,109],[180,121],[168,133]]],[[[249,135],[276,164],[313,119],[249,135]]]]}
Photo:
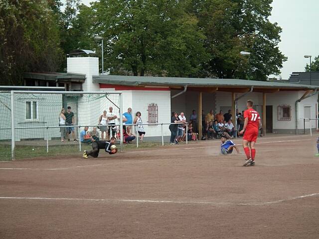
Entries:
{"type": "MultiPolygon", "coordinates": [[[[14,141],[14,95],[15,94],[59,94],[59,95],[119,95],[120,96],[120,129],[123,128],[123,93],[119,91],[10,91],[11,104],[11,160],[15,160],[15,141],[14,141]]],[[[74,125],[78,127],[79,125],[74,125]]],[[[123,130],[120,130],[120,151],[123,151],[123,130]]],[[[80,140],[79,140],[80,141],[80,140]]],[[[81,142],[80,151],[81,151],[81,142]]]]}

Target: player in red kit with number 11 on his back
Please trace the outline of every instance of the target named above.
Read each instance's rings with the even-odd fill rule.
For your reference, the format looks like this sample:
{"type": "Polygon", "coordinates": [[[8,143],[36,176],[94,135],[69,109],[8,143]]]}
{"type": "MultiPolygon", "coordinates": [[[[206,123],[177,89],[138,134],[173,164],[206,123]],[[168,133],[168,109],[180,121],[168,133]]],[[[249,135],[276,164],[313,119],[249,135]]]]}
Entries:
{"type": "Polygon", "coordinates": [[[253,101],[249,100],[247,101],[247,110],[244,113],[244,127],[243,130],[241,130],[239,133],[244,134],[243,137],[243,146],[244,151],[247,156],[247,160],[244,164],[244,166],[253,166],[255,165],[255,155],[256,155],[256,149],[255,149],[255,143],[257,141],[259,126],[261,124],[260,122],[260,116],[257,111],[253,109],[253,101]],[[250,146],[250,150],[248,147],[248,144],[250,146]]]}

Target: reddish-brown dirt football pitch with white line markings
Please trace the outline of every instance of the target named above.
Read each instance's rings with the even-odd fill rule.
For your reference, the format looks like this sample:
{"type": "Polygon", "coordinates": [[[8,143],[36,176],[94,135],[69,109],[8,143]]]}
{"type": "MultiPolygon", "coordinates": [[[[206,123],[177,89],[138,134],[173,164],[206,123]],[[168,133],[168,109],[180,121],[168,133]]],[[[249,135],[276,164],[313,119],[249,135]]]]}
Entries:
{"type": "Polygon", "coordinates": [[[0,238],[318,239],[316,137],[258,142],[255,167],[217,140],[1,162],[0,238]]]}

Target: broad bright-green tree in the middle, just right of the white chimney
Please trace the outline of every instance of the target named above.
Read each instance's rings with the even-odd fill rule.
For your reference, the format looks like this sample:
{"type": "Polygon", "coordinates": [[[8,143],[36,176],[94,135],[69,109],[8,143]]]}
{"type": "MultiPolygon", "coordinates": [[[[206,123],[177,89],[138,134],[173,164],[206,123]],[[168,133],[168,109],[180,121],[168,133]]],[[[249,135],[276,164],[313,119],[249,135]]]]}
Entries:
{"type": "Polygon", "coordinates": [[[102,35],[113,74],[195,76],[208,54],[204,35],[183,1],[100,0],[92,31],[102,35]]]}

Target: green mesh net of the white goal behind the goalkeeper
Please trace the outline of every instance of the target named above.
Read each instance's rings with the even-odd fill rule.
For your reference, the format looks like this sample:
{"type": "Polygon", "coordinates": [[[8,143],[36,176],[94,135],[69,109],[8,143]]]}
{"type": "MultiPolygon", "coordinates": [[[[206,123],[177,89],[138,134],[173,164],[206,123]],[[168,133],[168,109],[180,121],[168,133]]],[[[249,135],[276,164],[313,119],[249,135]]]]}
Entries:
{"type": "Polygon", "coordinates": [[[117,92],[0,92],[0,160],[80,154],[90,147],[80,142],[85,126],[99,139],[100,128],[104,139],[120,133],[119,126],[100,125],[104,111],[120,125],[120,108],[117,92]]]}

